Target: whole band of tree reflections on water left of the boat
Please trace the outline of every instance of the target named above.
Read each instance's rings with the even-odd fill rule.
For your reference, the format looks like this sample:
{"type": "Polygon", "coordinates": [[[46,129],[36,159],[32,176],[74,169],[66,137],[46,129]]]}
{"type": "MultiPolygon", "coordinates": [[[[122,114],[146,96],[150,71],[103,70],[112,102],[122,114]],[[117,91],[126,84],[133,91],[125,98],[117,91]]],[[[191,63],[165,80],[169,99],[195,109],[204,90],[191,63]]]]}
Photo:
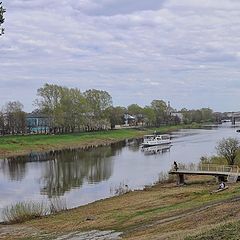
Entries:
{"type": "Polygon", "coordinates": [[[41,169],[40,193],[49,198],[62,196],[72,188],[108,180],[113,173],[113,156],[119,155],[127,142],[85,149],[66,149],[31,153],[1,161],[0,169],[11,181],[22,181],[31,164],[41,169]],[[39,166],[36,166],[39,165],[39,166]]]}

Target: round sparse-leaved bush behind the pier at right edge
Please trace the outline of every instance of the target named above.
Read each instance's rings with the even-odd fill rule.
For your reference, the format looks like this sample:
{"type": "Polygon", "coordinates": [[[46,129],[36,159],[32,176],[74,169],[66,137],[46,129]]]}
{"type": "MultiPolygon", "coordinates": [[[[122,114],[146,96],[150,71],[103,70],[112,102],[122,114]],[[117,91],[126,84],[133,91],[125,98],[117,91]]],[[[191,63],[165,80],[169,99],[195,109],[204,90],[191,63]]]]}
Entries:
{"type": "Polygon", "coordinates": [[[216,146],[217,153],[226,158],[229,165],[233,165],[239,150],[239,140],[236,138],[223,138],[216,146]]]}

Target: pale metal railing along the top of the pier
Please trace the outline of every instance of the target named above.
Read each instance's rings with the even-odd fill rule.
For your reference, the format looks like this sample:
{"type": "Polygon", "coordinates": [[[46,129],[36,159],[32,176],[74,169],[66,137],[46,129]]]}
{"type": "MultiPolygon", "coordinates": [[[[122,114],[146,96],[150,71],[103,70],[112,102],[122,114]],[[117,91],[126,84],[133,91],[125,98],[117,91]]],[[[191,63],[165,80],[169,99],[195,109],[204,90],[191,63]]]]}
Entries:
{"type": "Polygon", "coordinates": [[[218,164],[178,164],[178,170],[196,171],[196,172],[228,172],[238,173],[239,167],[236,165],[218,165],[218,164]]]}

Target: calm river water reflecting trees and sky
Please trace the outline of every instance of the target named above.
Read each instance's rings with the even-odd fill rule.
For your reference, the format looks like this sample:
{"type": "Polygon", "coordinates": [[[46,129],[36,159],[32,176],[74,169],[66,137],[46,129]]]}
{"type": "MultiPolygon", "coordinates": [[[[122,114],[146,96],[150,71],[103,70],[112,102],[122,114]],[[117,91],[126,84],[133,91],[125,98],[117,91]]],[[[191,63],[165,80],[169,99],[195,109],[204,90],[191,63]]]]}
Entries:
{"type": "MultiPolygon", "coordinates": [[[[141,140],[110,146],[32,153],[0,160],[0,212],[22,201],[63,199],[68,208],[115,194],[120,185],[142,189],[170,170],[173,161],[198,163],[216,154],[215,146],[227,137],[240,139],[231,125],[172,133],[172,146],[164,152],[146,152],[141,140]]],[[[1,220],[1,215],[0,215],[1,220]]]]}

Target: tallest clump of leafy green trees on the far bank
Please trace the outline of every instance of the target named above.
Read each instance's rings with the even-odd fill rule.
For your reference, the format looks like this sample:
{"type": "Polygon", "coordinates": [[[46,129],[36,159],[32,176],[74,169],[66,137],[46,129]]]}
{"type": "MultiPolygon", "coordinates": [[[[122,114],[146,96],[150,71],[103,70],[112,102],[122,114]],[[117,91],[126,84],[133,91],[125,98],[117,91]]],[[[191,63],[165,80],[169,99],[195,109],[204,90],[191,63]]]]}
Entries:
{"type": "Polygon", "coordinates": [[[108,127],[112,97],[106,91],[45,84],[37,91],[38,111],[50,119],[53,132],[102,130],[108,127]]]}

